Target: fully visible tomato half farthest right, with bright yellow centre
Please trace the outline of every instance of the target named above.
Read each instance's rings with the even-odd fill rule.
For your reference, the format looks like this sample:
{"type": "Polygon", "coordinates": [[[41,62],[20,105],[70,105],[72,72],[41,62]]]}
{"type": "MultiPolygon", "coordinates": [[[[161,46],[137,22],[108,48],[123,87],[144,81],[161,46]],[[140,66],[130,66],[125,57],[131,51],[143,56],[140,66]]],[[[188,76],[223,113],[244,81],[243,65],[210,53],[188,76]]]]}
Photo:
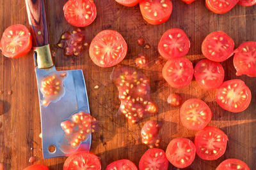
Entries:
{"type": "Polygon", "coordinates": [[[216,92],[216,101],[221,108],[234,113],[246,110],[251,99],[251,90],[239,79],[224,81],[216,92]]]}

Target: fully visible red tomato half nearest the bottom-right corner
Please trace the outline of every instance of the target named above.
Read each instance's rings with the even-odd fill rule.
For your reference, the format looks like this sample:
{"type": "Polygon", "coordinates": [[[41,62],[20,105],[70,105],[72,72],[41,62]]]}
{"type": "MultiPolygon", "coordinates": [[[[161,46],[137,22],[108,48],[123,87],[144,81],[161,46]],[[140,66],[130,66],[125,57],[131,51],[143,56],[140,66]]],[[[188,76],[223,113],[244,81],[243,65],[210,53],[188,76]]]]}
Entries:
{"type": "Polygon", "coordinates": [[[204,160],[216,160],[225,153],[227,141],[223,131],[207,126],[195,135],[196,154],[204,160]]]}

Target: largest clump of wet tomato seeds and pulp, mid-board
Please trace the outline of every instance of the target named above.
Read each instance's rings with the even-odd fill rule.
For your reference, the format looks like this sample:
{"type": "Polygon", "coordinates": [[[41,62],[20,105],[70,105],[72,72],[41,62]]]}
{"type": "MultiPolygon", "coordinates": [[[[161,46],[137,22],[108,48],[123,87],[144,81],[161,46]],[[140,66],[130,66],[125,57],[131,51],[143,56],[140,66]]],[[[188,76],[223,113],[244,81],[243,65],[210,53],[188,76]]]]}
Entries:
{"type": "Polygon", "coordinates": [[[157,113],[157,105],[150,98],[149,79],[134,67],[116,67],[110,76],[118,87],[121,100],[119,113],[132,124],[157,113]]]}

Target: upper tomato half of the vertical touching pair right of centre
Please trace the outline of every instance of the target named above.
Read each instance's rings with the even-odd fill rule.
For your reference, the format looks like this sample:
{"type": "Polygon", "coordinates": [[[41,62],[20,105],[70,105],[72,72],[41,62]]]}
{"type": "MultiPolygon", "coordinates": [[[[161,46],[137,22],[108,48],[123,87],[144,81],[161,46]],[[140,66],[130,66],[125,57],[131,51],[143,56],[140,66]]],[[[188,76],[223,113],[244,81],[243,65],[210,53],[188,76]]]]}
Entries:
{"type": "Polygon", "coordinates": [[[190,42],[182,29],[168,29],[158,43],[158,52],[165,59],[183,57],[189,51],[190,42]]]}

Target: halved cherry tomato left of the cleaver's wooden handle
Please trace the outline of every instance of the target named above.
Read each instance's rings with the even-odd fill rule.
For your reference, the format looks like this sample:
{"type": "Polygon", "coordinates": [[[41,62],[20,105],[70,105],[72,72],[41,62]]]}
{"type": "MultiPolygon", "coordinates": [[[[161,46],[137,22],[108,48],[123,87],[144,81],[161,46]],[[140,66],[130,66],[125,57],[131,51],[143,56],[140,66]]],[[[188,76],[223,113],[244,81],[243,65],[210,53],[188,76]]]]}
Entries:
{"type": "Polygon", "coordinates": [[[5,57],[19,58],[31,50],[32,39],[27,27],[12,25],[8,27],[1,38],[0,50],[5,57]]]}

